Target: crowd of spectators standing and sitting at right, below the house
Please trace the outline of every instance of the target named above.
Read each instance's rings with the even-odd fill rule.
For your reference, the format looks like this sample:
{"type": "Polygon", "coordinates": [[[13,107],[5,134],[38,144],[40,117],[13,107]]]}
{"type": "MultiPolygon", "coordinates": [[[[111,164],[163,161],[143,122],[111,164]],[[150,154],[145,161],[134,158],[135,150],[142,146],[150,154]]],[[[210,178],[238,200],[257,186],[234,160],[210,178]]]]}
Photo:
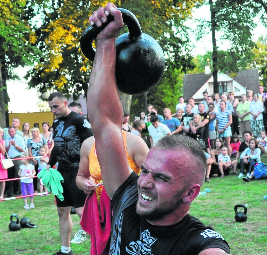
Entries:
{"type": "Polygon", "coordinates": [[[165,135],[188,135],[199,141],[209,155],[208,162],[212,162],[207,167],[206,181],[230,173],[251,181],[251,178],[248,180],[249,173],[253,171],[254,163],[260,162],[259,151],[265,153],[267,149],[266,98],[263,86],[259,86],[258,93],[248,90],[240,101],[233,92],[208,95],[205,91],[198,105],[194,98],[185,100],[180,96],[174,114],[170,108],[165,108],[164,116],[161,116],[149,104],[147,115],[144,117],[144,112],[141,112],[139,117],[134,117],[130,130],[141,136],[149,148],[165,135]],[[240,168],[240,173],[237,168],[240,168]]]}

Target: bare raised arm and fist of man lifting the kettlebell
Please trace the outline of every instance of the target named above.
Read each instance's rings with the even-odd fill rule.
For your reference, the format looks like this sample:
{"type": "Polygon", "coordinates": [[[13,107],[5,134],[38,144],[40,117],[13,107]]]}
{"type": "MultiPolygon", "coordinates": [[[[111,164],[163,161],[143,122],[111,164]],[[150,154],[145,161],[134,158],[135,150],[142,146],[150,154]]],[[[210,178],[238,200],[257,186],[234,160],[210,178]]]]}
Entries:
{"type": "Polygon", "coordinates": [[[97,36],[97,48],[87,93],[87,112],[95,131],[97,158],[110,198],[133,170],[128,166],[122,137],[123,110],[115,79],[115,37],[123,27],[122,14],[112,3],[98,8],[89,18],[102,26],[107,15],[114,16],[97,36]]]}

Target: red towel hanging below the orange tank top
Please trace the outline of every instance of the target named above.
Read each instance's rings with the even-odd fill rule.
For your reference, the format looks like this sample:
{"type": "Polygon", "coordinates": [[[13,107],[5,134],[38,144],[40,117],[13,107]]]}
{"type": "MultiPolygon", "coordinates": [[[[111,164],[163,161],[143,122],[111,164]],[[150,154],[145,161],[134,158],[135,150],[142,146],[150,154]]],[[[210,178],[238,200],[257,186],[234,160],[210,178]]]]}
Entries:
{"type": "Polygon", "coordinates": [[[100,198],[100,213],[98,211],[97,194],[94,191],[87,196],[82,216],[81,227],[91,235],[91,255],[108,255],[111,233],[111,202],[105,188],[100,198]]]}

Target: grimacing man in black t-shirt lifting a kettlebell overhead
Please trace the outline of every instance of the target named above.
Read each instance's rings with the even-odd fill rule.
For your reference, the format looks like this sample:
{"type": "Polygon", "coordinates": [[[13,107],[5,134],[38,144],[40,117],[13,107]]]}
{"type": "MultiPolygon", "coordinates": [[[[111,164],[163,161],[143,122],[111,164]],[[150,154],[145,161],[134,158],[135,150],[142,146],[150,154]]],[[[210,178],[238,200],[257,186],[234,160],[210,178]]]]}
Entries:
{"type": "MultiPolygon", "coordinates": [[[[181,135],[164,137],[149,151],[139,177],[129,168],[115,79],[115,38],[123,27],[122,14],[108,3],[95,11],[89,22],[101,27],[108,15],[114,21],[96,38],[87,108],[92,128],[97,130],[102,180],[112,199],[110,254],[230,254],[219,233],[189,215],[206,171],[206,157],[196,141],[181,135]]],[[[83,185],[86,187],[87,181],[83,185]]]]}

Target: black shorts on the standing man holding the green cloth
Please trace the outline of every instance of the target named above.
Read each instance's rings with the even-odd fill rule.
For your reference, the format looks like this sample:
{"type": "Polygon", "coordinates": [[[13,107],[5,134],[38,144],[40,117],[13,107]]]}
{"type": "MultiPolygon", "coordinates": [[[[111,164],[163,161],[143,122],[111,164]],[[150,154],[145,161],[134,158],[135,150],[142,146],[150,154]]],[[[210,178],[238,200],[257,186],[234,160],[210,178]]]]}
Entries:
{"type": "Polygon", "coordinates": [[[84,206],[87,195],[84,191],[80,190],[75,182],[77,171],[59,171],[64,178],[64,182],[61,183],[63,187],[64,200],[60,201],[56,196],[57,207],[74,206],[79,208],[84,206]]]}

